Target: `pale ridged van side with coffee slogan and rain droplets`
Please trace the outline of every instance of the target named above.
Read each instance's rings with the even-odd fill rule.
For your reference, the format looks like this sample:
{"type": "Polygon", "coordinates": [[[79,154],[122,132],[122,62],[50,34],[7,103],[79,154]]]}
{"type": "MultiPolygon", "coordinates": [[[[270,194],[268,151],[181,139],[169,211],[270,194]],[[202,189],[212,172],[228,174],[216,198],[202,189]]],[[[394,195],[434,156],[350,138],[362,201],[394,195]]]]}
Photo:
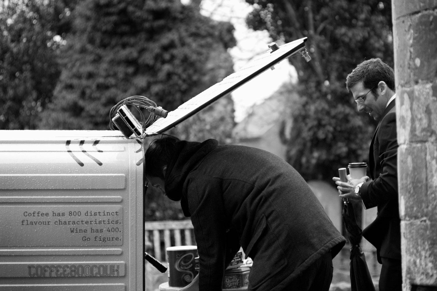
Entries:
{"type": "Polygon", "coordinates": [[[0,131],[0,290],[142,290],[142,158],[118,131],[0,131]]]}

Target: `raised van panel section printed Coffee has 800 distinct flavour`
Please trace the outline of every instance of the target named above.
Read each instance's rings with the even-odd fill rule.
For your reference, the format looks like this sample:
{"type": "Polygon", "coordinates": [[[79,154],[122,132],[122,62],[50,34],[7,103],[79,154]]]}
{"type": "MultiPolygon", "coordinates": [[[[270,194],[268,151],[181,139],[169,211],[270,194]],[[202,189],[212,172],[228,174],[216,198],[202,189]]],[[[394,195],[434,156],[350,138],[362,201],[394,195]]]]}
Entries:
{"type": "Polygon", "coordinates": [[[123,208],[0,206],[0,246],[121,246],[123,208]]]}

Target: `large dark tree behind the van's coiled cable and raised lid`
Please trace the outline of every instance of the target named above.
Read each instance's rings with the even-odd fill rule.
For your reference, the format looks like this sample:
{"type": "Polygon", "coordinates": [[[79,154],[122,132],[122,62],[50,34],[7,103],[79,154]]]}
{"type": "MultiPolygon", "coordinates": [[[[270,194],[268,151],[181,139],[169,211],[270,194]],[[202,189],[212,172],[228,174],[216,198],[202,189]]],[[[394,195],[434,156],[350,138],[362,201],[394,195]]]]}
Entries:
{"type": "MultiPolygon", "coordinates": [[[[226,53],[235,44],[232,26],[202,17],[198,7],[86,0],[72,14],[72,33],[59,52],[62,74],[42,128],[108,129],[111,107],[134,95],[172,111],[225,77],[223,69],[232,73],[229,62],[205,66],[218,53],[213,48],[226,53]]],[[[223,126],[222,134],[232,123],[223,126]]]]}

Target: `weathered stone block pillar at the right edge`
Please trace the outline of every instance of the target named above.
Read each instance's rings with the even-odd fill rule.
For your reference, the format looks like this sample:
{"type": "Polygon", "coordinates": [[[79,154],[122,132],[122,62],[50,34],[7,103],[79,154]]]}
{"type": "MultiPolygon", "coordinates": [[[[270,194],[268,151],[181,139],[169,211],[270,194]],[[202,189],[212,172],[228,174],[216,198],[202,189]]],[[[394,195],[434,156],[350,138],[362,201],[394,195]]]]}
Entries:
{"type": "Polygon", "coordinates": [[[437,0],[392,0],[403,291],[437,287],[437,0]]]}

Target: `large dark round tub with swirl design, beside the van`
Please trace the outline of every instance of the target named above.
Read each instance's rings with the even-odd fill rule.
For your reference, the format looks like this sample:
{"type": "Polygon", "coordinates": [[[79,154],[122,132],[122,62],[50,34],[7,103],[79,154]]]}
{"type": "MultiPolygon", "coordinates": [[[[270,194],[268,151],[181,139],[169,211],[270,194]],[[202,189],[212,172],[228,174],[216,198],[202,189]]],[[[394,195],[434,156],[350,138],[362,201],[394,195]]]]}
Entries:
{"type": "Polygon", "coordinates": [[[169,287],[187,286],[198,273],[194,261],[197,246],[170,246],[166,250],[169,287]]]}

